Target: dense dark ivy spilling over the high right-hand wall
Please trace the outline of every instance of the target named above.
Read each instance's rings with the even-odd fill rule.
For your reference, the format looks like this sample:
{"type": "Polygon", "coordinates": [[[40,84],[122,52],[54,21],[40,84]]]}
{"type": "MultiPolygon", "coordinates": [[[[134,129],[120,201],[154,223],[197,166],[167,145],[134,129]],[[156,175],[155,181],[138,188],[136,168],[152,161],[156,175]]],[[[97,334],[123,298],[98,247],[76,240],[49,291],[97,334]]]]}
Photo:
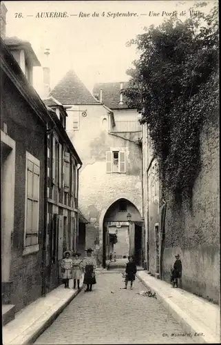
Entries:
{"type": "Polygon", "coordinates": [[[129,44],[136,44],[140,57],[127,71],[127,103],[147,123],[163,190],[176,201],[191,199],[200,132],[218,113],[218,6],[207,15],[171,17],[145,28],[129,44]]]}

